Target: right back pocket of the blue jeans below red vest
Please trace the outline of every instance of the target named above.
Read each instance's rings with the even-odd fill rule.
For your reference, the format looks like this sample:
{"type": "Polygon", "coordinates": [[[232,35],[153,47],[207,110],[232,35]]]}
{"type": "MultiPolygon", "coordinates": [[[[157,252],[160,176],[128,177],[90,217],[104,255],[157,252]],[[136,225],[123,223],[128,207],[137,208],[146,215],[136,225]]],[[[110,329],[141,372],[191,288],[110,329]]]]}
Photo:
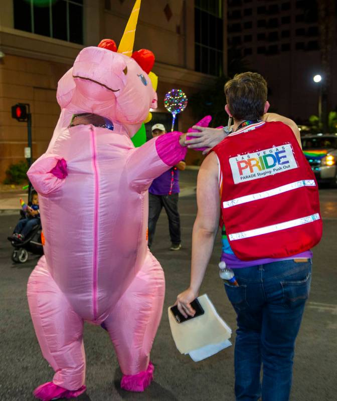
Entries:
{"type": "Polygon", "coordinates": [[[303,305],[309,297],[310,283],[311,273],[307,273],[303,280],[281,281],[284,306],[296,308],[303,305]]]}

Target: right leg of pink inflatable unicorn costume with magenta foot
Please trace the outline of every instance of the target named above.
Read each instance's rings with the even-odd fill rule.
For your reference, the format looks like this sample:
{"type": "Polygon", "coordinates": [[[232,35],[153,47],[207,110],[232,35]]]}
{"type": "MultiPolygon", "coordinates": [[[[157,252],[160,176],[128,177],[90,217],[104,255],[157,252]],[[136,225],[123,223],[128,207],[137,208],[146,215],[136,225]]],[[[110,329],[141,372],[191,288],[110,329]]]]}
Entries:
{"type": "Polygon", "coordinates": [[[148,253],[144,266],[104,321],[123,373],[121,387],[144,391],[153,377],[150,351],[164,301],[165,282],[158,261],[148,253]]]}

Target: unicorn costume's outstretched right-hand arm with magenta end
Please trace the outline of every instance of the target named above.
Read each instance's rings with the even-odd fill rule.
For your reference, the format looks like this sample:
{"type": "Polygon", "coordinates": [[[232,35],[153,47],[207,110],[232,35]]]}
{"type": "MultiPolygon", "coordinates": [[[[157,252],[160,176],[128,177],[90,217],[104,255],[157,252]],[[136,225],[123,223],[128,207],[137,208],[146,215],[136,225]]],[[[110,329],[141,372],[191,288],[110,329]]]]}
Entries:
{"type": "Polygon", "coordinates": [[[132,149],[126,168],[133,189],[147,190],[154,178],[185,158],[187,148],[179,143],[180,136],[181,132],[169,132],[132,149]]]}

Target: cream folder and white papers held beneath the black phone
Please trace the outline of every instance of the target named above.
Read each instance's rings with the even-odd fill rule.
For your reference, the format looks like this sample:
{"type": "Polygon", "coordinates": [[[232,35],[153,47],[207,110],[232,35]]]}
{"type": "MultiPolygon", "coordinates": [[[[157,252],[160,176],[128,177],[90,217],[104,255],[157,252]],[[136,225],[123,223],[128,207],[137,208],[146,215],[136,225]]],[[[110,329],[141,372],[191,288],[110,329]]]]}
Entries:
{"type": "Polygon", "coordinates": [[[232,345],[229,341],[232,330],[219,316],[207,294],[198,300],[205,313],[182,323],[176,321],[168,307],[168,321],[178,350],[190,354],[196,362],[232,345]]]}

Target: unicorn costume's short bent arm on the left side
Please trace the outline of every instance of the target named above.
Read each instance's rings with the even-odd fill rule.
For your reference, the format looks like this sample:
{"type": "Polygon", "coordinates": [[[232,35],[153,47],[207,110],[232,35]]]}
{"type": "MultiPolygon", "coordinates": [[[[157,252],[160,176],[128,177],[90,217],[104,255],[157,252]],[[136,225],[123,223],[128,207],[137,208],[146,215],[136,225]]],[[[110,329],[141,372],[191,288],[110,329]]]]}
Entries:
{"type": "Polygon", "coordinates": [[[27,172],[34,189],[43,195],[48,195],[60,188],[68,175],[67,162],[56,154],[43,154],[27,172]]]}

